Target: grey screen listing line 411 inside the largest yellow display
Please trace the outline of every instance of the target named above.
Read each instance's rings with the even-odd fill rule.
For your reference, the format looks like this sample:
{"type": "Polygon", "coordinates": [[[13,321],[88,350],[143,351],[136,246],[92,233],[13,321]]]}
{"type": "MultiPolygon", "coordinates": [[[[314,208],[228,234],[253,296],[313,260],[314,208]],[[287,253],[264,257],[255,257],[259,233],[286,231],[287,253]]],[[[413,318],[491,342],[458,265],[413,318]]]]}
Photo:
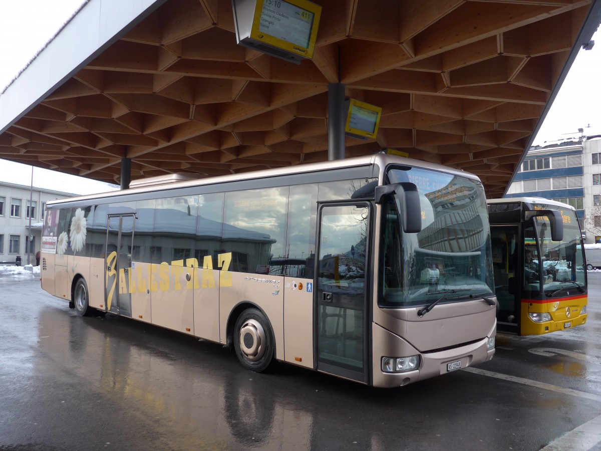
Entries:
{"type": "MultiPolygon", "coordinates": [[[[315,14],[283,0],[264,0],[259,32],[290,42],[306,53],[315,14]]],[[[258,35],[261,38],[261,35],[258,35]]]]}

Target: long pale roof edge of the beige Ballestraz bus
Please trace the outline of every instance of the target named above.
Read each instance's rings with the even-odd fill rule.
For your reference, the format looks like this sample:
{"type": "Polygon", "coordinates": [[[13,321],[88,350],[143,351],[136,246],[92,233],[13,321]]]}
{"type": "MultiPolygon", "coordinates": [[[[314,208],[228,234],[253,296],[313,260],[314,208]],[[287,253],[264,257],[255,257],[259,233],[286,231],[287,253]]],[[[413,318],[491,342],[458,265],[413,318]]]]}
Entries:
{"type": "MultiPolygon", "coordinates": [[[[395,155],[386,155],[384,153],[377,153],[370,156],[359,156],[356,158],[345,158],[334,161],[325,161],[318,163],[309,163],[309,164],[301,164],[294,165],[292,167],[285,168],[273,168],[262,171],[252,171],[247,173],[239,173],[239,174],[231,174],[227,176],[217,176],[217,177],[206,177],[204,179],[195,179],[195,180],[182,180],[175,181],[173,183],[159,183],[157,185],[146,185],[139,186],[138,188],[130,188],[130,189],[122,189],[121,191],[109,191],[102,192],[98,194],[90,194],[78,197],[70,197],[70,198],[62,198],[51,200],[47,202],[48,206],[52,206],[60,203],[68,203],[74,200],[92,200],[97,198],[105,198],[105,197],[119,197],[120,195],[128,195],[128,194],[138,194],[144,192],[153,192],[153,191],[166,191],[169,189],[175,188],[188,188],[190,186],[203,186],[203,185],[212,185],[218,183],[227,183],[227,182],[238,182],[241,180],[255,180],[261,178],[269,178],[269,177],[277,177],[277,176],[287,176],[290,174],[299,174],[299,173],[312,173],[312,172],[320,172],[326,170],[334,170],[334,169],[342,169],[349,167],[360,167],[360,166],[370,166],[370,165],[378,165],[380,169],[385,168],[389,164],[400,164],[407,165],[418,168],[426,168],[432,169],[435,171],[441,171],[448,174],[453,174],[456,176],[466,177],[468,179],[480,180],[474,174],[457,170],[454,168],[448,168],[442,165],[438,165],[435,163],[429,163],[425,161],[418,161],[411,158],[404,158],[401,156],[395,155]]],[[[380,180],[381,182],[381,180],[380,180]]]]}

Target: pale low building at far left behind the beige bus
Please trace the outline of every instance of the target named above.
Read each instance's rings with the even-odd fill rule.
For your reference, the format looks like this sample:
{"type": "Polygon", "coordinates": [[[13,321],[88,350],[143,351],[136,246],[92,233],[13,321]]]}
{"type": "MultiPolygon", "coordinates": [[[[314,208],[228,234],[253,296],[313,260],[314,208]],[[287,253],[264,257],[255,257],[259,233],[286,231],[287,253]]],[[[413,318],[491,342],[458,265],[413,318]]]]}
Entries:
{"type": "Polygon", "coordinates": [[[73,195],[0,182],[0,264],[20,262],[35,266],[46,202],[73,195]]]}

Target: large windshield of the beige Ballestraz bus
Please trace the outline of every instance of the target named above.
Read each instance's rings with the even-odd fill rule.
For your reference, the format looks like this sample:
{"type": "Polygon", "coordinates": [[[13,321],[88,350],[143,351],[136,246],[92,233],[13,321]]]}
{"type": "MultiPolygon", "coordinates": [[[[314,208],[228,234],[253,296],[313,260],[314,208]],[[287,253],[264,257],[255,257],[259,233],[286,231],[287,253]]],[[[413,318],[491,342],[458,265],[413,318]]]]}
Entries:
{"type": "Polygon", "coordinates": [[[389,183],[414,183],[421,232],[403,233],[394,197],[383,204],[379,305],[415,307],[494,294],[486,199],[478,180],[424,168],[392,168],[389,183]]]}

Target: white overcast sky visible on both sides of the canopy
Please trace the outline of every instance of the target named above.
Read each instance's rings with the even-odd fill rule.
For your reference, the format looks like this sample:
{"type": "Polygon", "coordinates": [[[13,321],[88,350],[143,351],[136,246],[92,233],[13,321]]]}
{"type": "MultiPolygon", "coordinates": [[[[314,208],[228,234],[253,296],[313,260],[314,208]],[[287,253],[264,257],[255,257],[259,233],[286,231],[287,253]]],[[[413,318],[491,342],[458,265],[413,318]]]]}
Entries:
{"type": "MultiPolygon", "coordinates": [[[[84,3],[85,0],[0,0],[0,92],[84,3]]],[[[585,135],[601,134],[601,32],[597,31],[593,40],[597,44],[592,50],[579,52],[534,144],[579,137],[579,128],[584,129],[585,135]]],[[[4,170],[8,169],[6,161],[0,161],[0,165],[1,180],[13,171],[19,180],[23,178],[16,167],[4,170]]],[[[36,171],[40,180],[47,173],[36,171]]],[[[31,177],[31,168],[26,167],[23,174],[26,173],[31,177]]],[[[29,184],[29,177],[23,184],[29,184]]],[[[105,188],[101,184],[97,189],[105,188]]]]}

